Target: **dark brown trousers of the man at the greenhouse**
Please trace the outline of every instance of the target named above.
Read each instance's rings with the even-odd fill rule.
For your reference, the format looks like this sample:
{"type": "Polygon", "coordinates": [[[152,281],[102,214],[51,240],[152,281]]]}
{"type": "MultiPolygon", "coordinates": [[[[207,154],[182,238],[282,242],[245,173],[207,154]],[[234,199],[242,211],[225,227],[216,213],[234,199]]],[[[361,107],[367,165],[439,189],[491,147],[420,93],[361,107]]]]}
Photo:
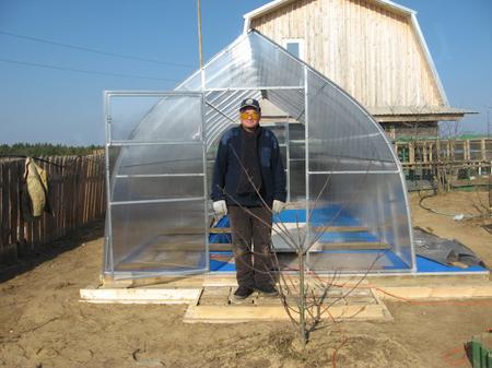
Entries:
{"type": "Polygon", "coordinates": [[[274,284],[271,269],[271,212],[266,207],[230,205],[234,261],[239,286],[274,284]],[[251,247],[253,244],[253,247],[251,247]]]}

